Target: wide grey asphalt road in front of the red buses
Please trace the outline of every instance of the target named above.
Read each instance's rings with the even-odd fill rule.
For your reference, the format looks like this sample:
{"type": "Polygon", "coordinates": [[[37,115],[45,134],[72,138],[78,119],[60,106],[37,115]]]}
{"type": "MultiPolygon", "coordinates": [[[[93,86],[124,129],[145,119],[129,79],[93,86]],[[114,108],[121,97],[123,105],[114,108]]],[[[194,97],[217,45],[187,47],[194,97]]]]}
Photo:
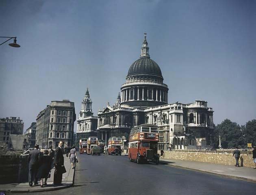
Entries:
{"type": "MultiPolygon", "coordinates": [[[[127,156],[79,155],[75,186],[29,194],[56,195],[252,195],[256,183],[170,165],[137,164],[127,156]]],[[[20,194],[21,195],[21,194],[20,194]]]]}

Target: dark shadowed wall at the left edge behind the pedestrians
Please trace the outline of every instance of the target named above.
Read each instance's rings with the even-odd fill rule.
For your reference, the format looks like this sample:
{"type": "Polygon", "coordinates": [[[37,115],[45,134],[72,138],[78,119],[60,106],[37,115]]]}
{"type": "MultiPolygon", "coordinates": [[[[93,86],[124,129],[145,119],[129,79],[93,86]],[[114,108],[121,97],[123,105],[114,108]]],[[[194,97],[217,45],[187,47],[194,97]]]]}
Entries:
{"type": "Polygon", "coordinates": [[[28,156],[0,155],[0,184],[28,182],[28,156]]]}

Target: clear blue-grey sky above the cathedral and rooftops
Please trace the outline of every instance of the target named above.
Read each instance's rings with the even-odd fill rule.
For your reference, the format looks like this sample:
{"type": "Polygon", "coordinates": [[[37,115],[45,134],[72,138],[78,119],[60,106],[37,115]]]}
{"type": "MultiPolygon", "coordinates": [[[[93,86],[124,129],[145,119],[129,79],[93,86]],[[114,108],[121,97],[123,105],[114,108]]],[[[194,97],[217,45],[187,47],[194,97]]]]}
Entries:
{"type": "Polygon", "coordinates": [[[87,87],[97,116],[147,32],[169,103],[205,100],[216,125],[244,125],[256,119],[255,10],[252,0],[1,0],[0,36],[21,47],[0,45],[0,118],[20,117],[25,131],[63,99],[78,118],[87,87]]]}

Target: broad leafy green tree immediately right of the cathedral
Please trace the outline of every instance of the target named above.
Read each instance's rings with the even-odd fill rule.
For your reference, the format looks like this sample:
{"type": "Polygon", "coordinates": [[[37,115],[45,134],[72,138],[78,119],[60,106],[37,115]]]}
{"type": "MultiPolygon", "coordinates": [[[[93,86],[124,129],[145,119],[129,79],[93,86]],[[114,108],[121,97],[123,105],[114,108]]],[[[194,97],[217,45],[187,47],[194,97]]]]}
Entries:
{"type": "Polygon", "coordinates": [[[218,124],[214,129],[214,134],[215,148],[219,146],[219,135],[223,148],[244,147],[245,145],[241,127],[229,119],[225,119],[221,124],[218,124]]]}

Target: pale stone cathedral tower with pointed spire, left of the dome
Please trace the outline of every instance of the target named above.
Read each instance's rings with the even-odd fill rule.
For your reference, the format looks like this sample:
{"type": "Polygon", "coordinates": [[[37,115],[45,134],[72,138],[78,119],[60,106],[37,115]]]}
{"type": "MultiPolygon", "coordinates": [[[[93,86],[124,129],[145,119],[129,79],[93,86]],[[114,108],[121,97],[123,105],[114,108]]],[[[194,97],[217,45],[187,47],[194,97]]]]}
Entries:
{"type": "Polygon", "coordinates": [[[82,100],[82,108],[77,119],[77,140],[80,138],[88,138],[89,136],[97,136],[98,117],[93,116],[92,103],[87,88],[85,97],[82,100]]]}

